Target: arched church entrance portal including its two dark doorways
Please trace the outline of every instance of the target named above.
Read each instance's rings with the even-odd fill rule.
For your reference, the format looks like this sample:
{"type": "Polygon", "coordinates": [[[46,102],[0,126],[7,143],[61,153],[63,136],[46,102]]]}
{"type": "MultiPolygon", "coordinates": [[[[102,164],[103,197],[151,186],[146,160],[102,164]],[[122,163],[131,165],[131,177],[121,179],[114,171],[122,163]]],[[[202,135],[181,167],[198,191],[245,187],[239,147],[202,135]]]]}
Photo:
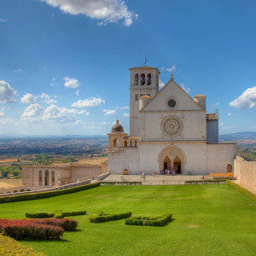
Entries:
{"type": "Polygon", "coordinates": [[[185,171],[185,155],[180,148],[168,146],[159,154],[159,172],[164,170],[175,170],[177,174],[183,174],[185,171]]]}

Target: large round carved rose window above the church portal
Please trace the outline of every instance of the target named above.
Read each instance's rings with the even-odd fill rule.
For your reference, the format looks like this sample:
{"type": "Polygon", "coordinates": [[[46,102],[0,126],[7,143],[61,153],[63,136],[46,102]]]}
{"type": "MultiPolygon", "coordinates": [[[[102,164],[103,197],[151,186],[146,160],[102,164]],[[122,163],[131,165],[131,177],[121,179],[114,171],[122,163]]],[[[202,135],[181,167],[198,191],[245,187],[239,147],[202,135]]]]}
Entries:
{"type": "Polygon", "coordinates": [[[183,122],[176,115],[167,116],[161,121],[161,130],[166,136],[176,137],[183,131],[183,122]]]}

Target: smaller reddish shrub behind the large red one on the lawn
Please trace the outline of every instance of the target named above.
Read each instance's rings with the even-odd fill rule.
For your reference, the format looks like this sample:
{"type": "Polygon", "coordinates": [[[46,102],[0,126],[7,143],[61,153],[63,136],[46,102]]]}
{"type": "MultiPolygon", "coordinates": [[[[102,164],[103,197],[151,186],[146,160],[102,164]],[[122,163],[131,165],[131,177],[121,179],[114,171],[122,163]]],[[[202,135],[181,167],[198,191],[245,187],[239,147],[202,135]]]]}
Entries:
{"type": "Polygon", "coordinates": [[[33,223],[47,224],[52,226],[59,226],[63,230],[75,230],[78,226],[78,221],[68,218],[43,218],[43,219],[31,219],[33,223]]]}

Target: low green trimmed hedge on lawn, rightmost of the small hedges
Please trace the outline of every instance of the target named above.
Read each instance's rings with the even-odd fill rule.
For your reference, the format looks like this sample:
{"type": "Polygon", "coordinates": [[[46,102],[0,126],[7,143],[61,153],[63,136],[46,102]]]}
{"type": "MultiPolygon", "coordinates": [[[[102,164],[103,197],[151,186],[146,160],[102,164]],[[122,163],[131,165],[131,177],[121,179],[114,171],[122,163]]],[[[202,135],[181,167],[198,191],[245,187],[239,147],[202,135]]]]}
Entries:
{"type": "Polygon", "coordinates": [[[131,217],[125,220],[126,225],[138,225],[138,226],[155,226],[162,227],[168,224],[172,219],[172,214],[166,214],[160,217],[131,217]]]}

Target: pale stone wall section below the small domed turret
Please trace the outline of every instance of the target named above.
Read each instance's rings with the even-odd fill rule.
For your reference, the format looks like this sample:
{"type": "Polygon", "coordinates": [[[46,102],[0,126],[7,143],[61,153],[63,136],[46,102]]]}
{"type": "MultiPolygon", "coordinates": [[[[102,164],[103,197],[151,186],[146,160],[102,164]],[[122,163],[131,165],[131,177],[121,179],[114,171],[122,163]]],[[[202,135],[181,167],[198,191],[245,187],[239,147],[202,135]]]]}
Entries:
{"type": "Polygon", "coordinates": [[[137,147],[124,148],[123,152],[108,153],[108,172],[123,174],[128,169],[129,174],[138,174],[137,147]]]}

